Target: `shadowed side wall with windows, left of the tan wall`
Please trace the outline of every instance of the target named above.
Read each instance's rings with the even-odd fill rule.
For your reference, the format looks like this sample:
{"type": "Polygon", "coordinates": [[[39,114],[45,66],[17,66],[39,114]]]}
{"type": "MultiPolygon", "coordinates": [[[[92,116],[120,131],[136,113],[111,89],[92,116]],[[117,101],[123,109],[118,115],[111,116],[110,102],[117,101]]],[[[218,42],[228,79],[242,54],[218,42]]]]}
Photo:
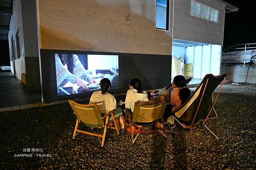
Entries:
{"type": "Polygon", "coordinates": [[[15,59],[16,77],[22,82],[25,88],[31,90],[40,89],[35,11],[35,0],[14,0],[9,31],[9,48],[12,49],[13,37],[15,56],[17,56],[17,40],[15,36],[17,31],[19,32],[20,58],[15,59]]]}

